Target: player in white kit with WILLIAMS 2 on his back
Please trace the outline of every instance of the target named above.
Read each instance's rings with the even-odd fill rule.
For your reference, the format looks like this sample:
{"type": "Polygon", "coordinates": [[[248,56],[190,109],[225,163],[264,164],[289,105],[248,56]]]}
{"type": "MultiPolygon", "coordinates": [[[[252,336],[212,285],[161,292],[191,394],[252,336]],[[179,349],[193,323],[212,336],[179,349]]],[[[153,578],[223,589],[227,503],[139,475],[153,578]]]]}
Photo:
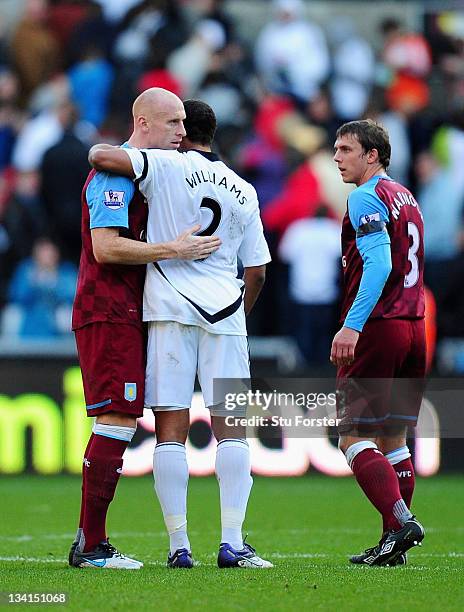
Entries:
{"type": "MultiPolygon", "coordinates": [[[[218,441],[222,524],[218,565],[267,568],[272,564],[258,557],[242,538],[253,482],[245,429],[226,425],[225,417],[231,413],[223,398],[214,396],[213,379],[250,377],[245,315],[264,283],[269,250],[255,189],[211,152],[216,130],[213,110],[199,100],[184,104],[185,112],[178,100],[186,130],[182,152],[96,145],[89,159],[97,169],[138,182],[149,204],[148,242],[175,237],[180,228],[197,223],[200,235],[214,233],[222,241],[220,249],[204,261],[169,261],[147,269],[145,404],[156,416],[153,472],[170,536],[168,566],[193,565],[187,536],[185,441],[198,374],[218,441]],[[244,267],[243,280],[237,278],[238,258],[244,267]]],[[[237,411],[233,415],[240,416],[237,411]]]]}

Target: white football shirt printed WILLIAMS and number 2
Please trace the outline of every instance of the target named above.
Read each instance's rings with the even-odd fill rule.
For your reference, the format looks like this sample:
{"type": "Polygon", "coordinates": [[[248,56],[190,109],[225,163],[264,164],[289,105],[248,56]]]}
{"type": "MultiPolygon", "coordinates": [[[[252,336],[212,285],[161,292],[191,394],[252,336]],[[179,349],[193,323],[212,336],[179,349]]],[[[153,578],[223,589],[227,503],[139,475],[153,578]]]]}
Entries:
{"type": "Polygon", "coordinates": [[[244,267],[270,261],[256,191],[214,153],[124,149],[149,206],[147,240],[174,240],[201,224],[221,247],[202,261],[168,260],[147,266],[144,321],[177,321],[211,333],[246,335],[244,267]]]}

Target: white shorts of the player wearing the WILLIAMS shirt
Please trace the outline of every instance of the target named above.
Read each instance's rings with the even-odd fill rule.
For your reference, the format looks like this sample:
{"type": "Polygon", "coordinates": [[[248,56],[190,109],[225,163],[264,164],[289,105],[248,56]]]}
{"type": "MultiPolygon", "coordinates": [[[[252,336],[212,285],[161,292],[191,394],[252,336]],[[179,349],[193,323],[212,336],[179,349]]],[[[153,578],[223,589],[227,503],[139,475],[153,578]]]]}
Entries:
{"type": "Polygon", "coordinates": [[[145,406],[160,411],[190,408],[196,374],[211,414],[230,414],[223,401],[214,401],[213,381],[249,380],[247,337],[211,334],[197,325],[175,321],[150,322],[145,406]]]}

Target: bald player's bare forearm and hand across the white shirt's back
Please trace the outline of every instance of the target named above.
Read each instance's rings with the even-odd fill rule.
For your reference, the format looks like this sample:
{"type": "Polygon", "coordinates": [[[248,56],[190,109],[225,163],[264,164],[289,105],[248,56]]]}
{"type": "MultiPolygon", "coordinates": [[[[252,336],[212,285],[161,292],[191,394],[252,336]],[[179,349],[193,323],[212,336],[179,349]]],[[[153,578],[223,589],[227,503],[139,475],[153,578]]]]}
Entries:
{"type": "Polygon", "coordinates": [[[171,242],[148,244],[119,235],[117,227],[91,230],[93,254],[99,264],[140,265],[164,259],[206,259],[221,245],[214,236],[194,236],[199,225],[186,230],[171,242]]]}

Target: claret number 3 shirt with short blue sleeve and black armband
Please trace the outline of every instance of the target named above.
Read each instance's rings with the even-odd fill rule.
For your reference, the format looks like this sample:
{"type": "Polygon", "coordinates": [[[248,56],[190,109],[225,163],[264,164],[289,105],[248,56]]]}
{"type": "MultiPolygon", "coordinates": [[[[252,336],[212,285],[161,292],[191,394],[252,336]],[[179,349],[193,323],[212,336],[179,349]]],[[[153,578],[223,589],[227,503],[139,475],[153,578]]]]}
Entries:
{"type": "Polygon", "coordinates": [[[343,219],[343,304],[345,321],[359,289],[362,255],[374,244],[390,244],[392,270],[371,319],[424,317],[424,224],[413,195],[386,175],[373,176],[348,198],[343,219]],[[369,237],[358,241],[356,238],[369,237]]]}

